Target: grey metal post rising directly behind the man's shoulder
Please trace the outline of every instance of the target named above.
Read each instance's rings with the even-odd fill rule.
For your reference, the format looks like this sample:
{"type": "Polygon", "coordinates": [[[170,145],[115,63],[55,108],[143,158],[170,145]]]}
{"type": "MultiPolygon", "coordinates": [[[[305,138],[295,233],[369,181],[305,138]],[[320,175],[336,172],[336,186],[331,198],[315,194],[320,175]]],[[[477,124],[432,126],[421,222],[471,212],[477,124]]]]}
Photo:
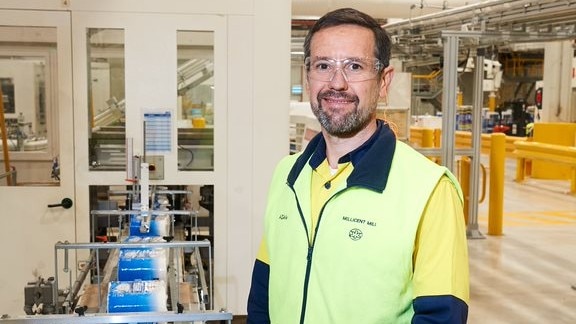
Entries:
{"type": "Polygon", "coordinates": [[[456,86],[458,72],[458,36],[442,33],[444,76],[442,90],[442,164],[454,171],[454,133],[456,131],[456,86]]]}

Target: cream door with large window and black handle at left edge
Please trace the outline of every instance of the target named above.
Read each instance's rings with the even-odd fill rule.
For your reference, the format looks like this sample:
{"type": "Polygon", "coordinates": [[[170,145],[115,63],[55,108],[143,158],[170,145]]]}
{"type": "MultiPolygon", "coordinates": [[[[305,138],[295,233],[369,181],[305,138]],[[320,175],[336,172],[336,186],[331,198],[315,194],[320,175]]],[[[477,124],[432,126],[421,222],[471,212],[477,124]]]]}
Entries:
{"type": "Polygon", "coordinates": [[[70,13],[0,10],[0,287],[4,313],[32,311],[27,282],[54,276],[76,239],[70,13]]]}

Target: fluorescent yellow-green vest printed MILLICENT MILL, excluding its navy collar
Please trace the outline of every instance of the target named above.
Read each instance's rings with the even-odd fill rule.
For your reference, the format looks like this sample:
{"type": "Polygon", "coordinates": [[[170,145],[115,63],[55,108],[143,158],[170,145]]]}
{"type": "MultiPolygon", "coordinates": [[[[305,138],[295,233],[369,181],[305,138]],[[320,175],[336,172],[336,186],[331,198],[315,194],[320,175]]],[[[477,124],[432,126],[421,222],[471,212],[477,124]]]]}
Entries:
{"type": "Polygon", "coordinates": [[[453,175],[398,141],[386,189],[344,183],[322,208],[309,244],[312,169],[286,184],[298,157],[279,164],[269,192],[271,322],[410,323],[418,224],[443,175],[458,188],[453,175]]]}

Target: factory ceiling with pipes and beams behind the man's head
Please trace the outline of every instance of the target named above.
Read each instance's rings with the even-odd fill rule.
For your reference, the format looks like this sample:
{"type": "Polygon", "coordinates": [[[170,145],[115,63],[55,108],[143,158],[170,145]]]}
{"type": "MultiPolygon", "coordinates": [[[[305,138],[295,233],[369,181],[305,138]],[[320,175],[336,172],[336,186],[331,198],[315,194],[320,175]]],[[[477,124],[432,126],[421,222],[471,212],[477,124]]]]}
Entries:
{"type": "MultiPolygon", "coordinates": [[[[414,65],[437,63],[446,33],[462,35],[462,55],[478,48],[576,39],[576,0],[492,0],[401,20],[380,19],[392,38],[393,55],[414,65]]],[[[293,53],[301,49],[313,22],[293,20],[293,53]]]]}

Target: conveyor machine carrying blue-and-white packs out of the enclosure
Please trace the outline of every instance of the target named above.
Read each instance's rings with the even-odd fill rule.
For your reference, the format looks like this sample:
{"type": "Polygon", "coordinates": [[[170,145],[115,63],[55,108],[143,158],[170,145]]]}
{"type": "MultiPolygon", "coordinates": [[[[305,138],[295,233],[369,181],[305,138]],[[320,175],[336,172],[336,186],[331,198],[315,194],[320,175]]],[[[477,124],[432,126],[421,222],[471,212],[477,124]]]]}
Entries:
{"type": "MultiPolygon", "coordinates": [[[[177,196],[190,192],[150,185],[150,169],[129,157],[130,189],[109,192],[124,197],[125,209],[92,210],[91,242],[55,244],[55,276],[24,288],[26,314],[42,316],[4,316],[0,323],[230,323],[232,314],[211,309],[211,237],[200,232],[197,212],[174,209],[177,196]]],[[[213,187],[201,194],[212,214],[213,187]]]]}

